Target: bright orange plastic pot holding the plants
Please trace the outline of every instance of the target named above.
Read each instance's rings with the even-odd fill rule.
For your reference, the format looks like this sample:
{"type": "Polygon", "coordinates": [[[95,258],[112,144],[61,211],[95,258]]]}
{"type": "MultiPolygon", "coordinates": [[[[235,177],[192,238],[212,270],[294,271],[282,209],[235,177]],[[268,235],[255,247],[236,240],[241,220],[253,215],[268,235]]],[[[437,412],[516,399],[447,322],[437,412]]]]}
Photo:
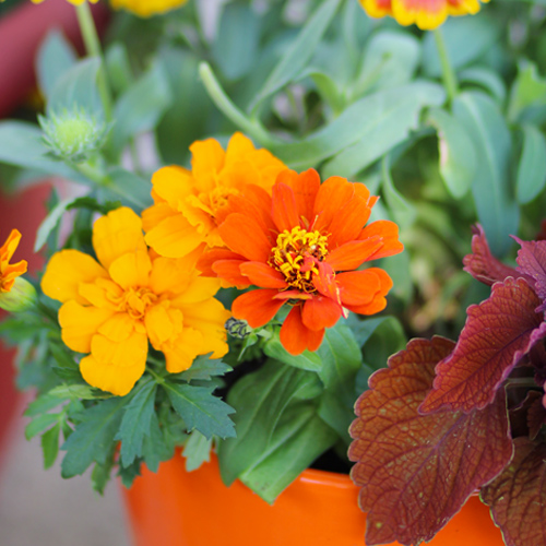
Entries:
{"type": "MultiPolygon", "coordinates": [[[[225,487],[217,461],[186,472],[175,456],[124,489],[135,546],[364,546],[366,514],[342,474],[307,470],[273,506],[240,482],[225,487]]],[[[392,543],[399,544],[399,543],[392,543]]],[[[502,546],[488,508],[472,497],[432,546],[502,546]]]]}

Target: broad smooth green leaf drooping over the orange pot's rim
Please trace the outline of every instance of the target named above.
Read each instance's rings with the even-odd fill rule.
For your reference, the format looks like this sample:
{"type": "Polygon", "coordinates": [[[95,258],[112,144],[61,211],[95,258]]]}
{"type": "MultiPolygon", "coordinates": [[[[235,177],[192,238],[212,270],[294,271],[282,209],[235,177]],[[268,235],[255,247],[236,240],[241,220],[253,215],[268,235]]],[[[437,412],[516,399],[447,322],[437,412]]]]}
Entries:
{"type": "Polygon", "coordinates": [[[283,412],[299,401],[300,392],[313,388],[316,381],[313,372],[271,360],[232,388],[228,402],[236,411],[237,438],[218,446],[219,468],[226,485],[261,459],[283,412]]]}

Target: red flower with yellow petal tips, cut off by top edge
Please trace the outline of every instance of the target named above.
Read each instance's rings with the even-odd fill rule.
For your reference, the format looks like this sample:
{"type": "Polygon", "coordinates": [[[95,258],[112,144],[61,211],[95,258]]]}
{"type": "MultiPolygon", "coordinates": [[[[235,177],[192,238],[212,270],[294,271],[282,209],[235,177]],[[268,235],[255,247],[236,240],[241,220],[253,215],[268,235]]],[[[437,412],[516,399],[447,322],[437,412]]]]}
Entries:
{"type": "Polygon", "coordinates": [[[371,17],[391,15],[401,25],[416,24],[424,31],[440,26],[448,15],[474,15],[480,8],[479,0],[359,0],[359,2],[371,17]]]}

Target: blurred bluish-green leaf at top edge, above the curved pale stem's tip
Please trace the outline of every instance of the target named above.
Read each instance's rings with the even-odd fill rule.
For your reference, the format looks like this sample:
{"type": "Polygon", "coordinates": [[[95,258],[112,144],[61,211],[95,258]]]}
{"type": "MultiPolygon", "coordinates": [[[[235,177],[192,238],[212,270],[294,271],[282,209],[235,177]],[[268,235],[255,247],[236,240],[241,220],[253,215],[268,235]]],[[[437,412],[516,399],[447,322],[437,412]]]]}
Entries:
{"type": "Polygon", "coordinates": [[[223,9],[212,55],[228,80],[242,78],[254,66],[260,26],[259,15],[248,3],[234,2],[223,9]]]}

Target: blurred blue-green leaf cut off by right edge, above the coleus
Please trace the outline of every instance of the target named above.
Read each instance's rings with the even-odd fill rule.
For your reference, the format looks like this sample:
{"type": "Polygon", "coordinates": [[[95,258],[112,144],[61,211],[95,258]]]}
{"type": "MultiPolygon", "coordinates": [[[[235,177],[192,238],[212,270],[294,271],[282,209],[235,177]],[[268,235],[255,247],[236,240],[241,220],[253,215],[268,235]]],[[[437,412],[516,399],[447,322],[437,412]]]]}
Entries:
{"type": "Polygon", "coordinates": [[[533,201],[546,183],[546,139],[535,126],[523,129],[523,152],[518,166],[515,195],[520,204],[533,201]]]}

